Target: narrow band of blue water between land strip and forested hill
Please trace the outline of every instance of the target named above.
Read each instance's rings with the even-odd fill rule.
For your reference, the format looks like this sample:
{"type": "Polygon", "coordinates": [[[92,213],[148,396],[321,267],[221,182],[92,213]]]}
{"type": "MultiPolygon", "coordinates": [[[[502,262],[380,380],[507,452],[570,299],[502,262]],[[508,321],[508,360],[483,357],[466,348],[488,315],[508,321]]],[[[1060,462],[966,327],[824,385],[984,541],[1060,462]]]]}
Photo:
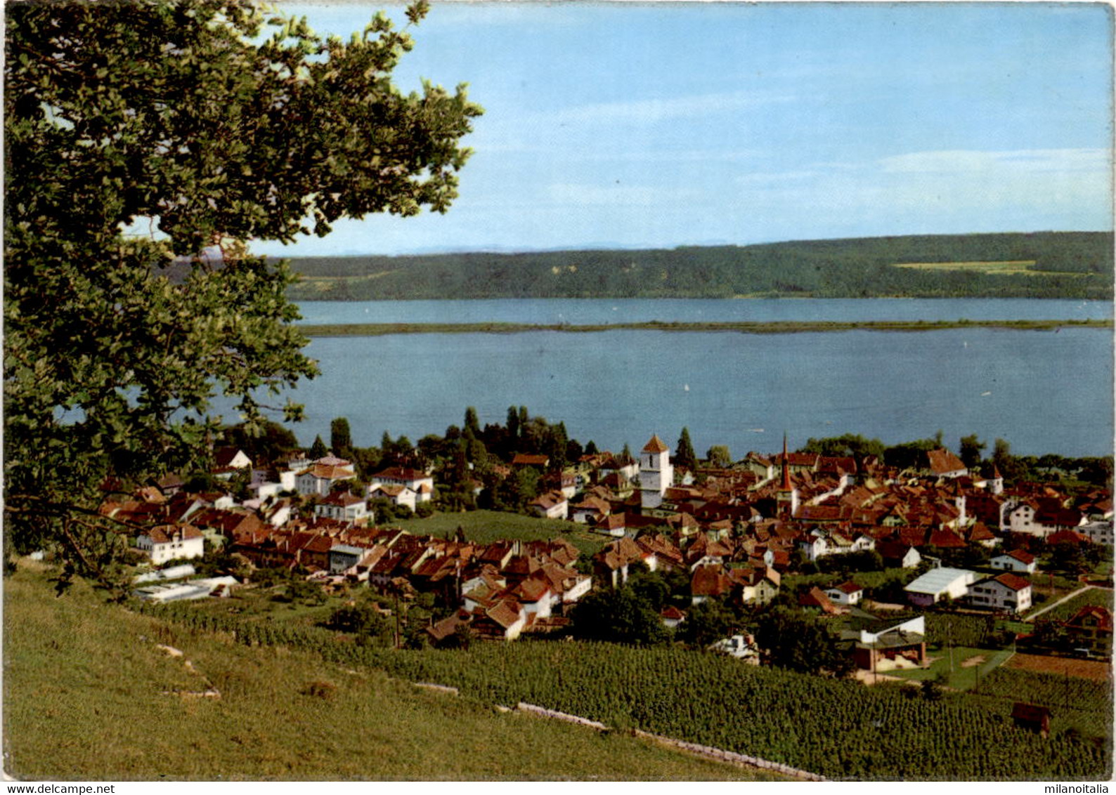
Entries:
{"type": "Polygon", "coordinates": [[[1029,299],[513,299],[307,301],[307,323],[618,323],[773,320],[1085,320],[1113,317],[1101,301],[1029,299]]]}

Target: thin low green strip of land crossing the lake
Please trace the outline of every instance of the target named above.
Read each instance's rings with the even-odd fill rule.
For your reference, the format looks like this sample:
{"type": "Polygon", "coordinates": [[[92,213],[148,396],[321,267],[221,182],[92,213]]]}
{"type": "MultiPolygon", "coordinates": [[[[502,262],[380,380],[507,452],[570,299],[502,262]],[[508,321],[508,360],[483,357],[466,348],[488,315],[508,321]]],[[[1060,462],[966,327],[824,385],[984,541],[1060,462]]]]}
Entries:
{"type": "Polygon", "coordinates": [[[383,337],[386,335],[493,333],[528,331],[699,331],[745,335],[818,333],[830,331],[942,331],[945,329],[1009,329],[1016,331],[1057,331],[1061,328],[1110,329],[1110,319],[1101,320],[869,320],[869,321],[772,321],[772,322],[663,322],[631,323],[312,323],[298,326],[307,337],[383,337]]]}

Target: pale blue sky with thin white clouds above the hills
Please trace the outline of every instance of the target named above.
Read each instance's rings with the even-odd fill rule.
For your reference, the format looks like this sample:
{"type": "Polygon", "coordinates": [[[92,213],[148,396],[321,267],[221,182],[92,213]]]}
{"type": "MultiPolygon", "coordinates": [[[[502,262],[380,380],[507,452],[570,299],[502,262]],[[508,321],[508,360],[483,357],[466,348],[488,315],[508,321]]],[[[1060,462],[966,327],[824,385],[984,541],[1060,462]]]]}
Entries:
{"type": "MultiPolygon", "coordinates": [[[[384,4],[280,3],[348,38],[384,4]]],[[[405,22],[402,6],[386,6],[405,22]]],[[[395,75],[484,116],[446,215],[282,255],[1112,229],[1101,3],[433,3],[395,75]]]]}

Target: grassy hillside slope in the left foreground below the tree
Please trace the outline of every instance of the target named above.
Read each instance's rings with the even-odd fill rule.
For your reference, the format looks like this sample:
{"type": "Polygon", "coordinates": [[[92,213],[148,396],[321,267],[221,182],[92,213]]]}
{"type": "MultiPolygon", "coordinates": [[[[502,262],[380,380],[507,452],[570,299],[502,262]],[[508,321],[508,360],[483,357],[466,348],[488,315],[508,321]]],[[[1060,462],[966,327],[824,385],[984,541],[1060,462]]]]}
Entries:
{"type": "Polygon", "coordinates": [[[4,769],[25,779],[725,779],[752,774],[620,735],[403,687],[282,648],[248,648],[4,580],[4,769]],[[202,689],[220,700],[161,695],[202,689]],[[331,697],[305,695],[310,682],[331,697]]]}

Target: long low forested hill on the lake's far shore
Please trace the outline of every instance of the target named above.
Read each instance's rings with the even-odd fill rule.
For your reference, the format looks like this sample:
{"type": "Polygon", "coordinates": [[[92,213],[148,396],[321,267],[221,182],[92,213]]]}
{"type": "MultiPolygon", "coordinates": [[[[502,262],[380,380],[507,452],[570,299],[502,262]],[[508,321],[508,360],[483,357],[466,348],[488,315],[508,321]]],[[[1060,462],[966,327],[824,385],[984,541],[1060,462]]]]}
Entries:
{"type": "Polygon", "coordinates": [[[647,251],[291,260],[308,300],[480,298],[1112,299],[1110,232],[907,235],[647,251]]]}

